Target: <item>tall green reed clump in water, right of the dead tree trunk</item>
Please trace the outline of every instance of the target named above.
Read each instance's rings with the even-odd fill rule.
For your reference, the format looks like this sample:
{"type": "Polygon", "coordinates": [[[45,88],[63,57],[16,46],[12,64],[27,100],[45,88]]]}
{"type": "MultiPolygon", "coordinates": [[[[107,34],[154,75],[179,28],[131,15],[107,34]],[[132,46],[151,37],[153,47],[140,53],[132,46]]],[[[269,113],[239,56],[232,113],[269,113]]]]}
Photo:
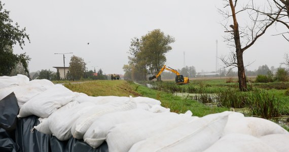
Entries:
{"type": "Polygon", "coordinates": [[[279,117],[279,99],[275,95],[270,95],[267,91],[255,89],[247,96],[248,106],[254,116],[265,119],[279,117]]]}

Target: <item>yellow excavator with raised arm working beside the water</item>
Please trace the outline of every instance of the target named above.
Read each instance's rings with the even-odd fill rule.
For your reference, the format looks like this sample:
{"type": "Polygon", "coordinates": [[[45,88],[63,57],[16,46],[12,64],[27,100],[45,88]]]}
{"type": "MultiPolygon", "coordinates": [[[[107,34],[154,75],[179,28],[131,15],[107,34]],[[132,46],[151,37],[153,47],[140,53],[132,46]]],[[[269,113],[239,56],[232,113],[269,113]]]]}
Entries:
{"type": "Polygon", "coordinates": [[[153,77],[150,77],[149,80],[153,80],[155,78],[158,78],[164,70],[168,70],[168,71],[171,71],[171,72],[175,73],[175,82],[176,82],[176,84],[187,84],[187,83],[189,83],[189,78],[188,77],[184,77],[183,75],[180,75],[177,70],[175,70],[175,69],[173,69],[171,67],[168,67],[166,65],[164,65],[161,68],[161,70],[156,75],[153,75],[153,77]]]}

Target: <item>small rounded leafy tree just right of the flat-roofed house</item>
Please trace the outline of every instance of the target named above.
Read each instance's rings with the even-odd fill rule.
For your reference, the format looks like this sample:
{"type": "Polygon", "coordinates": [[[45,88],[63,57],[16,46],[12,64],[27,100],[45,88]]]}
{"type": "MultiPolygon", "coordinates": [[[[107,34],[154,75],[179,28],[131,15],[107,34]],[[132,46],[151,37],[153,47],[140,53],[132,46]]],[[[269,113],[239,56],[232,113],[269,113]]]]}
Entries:
{"type": "Polygon", "coordinates": [[[71,78],[74,80],[80,80],[82,77],[84,77],[84,67],[85,62],[83,58],[77,57],[75,55],[72,56],[69,62],[69,72],[71,78]]]}

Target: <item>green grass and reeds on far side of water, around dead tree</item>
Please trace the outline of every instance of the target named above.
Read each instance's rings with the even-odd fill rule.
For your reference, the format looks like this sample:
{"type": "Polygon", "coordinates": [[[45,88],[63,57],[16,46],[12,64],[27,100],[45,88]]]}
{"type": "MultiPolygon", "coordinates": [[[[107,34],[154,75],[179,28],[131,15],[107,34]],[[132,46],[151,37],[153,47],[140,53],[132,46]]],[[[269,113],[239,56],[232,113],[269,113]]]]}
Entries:
{"type": "Polygon", "coordinates": [[[165,92],[198,93],[198,100],[207,103],[210,94],[216,94],[222,106],[246,108],[251,115],[270,119],[279,115],[289,115],[289,96],[286,94],[289,83],[247,83],[249,91],[238,91],[237,80],[203,79],[191,81],[187,85],[176,85],[173,81],[149,82],[156,90],[165,92]],[[229,83],[227,83],[229,82],[229,83]],[[257,106],[257,107],[256,107],[257,106]],[[277,109],[276,109],[277,108],[277,109]]]}

